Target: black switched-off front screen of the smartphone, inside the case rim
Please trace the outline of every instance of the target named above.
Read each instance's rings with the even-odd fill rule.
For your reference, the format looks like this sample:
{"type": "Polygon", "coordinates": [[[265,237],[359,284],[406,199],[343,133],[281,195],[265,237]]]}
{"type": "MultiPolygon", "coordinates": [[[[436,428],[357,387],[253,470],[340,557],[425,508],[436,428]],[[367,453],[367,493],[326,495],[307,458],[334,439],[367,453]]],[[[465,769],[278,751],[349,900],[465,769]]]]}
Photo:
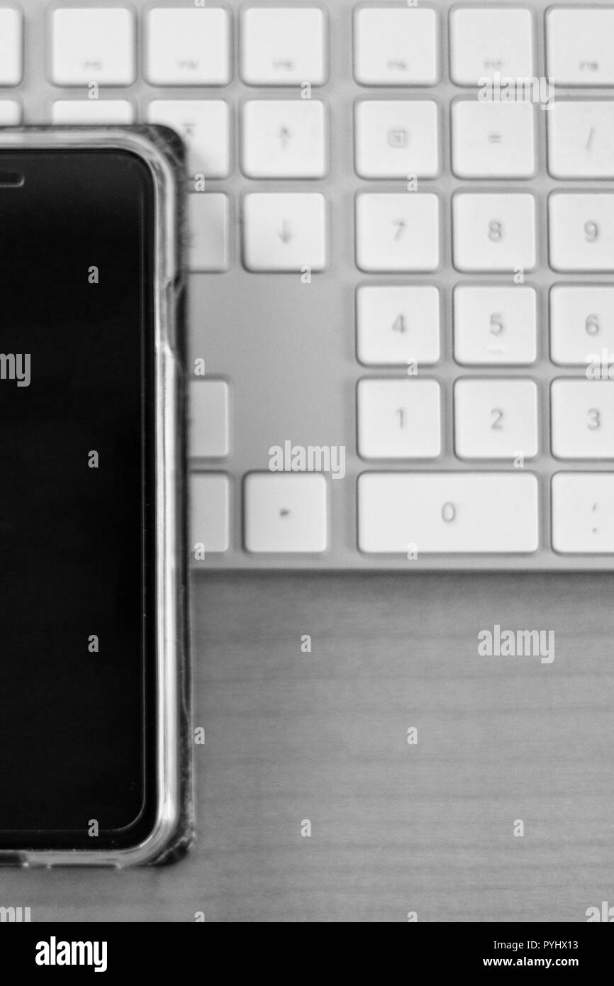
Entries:
{"type": "Polygon", "coordinates": [[[121,848],[155,810],[154,185],[0,154],[0,847],[121,848]]]}

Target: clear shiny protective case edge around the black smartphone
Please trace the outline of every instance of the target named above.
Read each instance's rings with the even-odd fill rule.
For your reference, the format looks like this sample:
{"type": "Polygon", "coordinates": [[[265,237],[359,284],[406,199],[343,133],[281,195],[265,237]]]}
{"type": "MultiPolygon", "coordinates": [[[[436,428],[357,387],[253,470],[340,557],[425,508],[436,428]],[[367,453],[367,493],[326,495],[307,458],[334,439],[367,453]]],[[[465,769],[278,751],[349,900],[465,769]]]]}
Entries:
{"type": "Polygon", "coordinates": [[[163,126],[11,127],[3,149],[119,149],[138,155],[155,185],[157,805],[150,835],[113,850],[0,851],[22,866],[164,864],[180,858],[193,835],[187,590],[183,372],[184,149],[163,126]]]}

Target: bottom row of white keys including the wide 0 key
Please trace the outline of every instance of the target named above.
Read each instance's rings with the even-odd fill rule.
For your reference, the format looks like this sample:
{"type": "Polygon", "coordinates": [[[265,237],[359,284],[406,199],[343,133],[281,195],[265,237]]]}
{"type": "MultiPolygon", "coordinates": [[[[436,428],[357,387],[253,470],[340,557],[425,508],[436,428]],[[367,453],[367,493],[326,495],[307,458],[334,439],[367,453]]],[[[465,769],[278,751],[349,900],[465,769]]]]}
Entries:
{"type": "MultiPolygon", "coordinates": [[[[232,485],[191,478],[190,553],[228,551],[236,538],[232,485]]],[[[335,486],[336,484],[332,484],[335,486]]],[[[321,554],[330,547],[330,484],[321,474],[253,472],[242,484],[243,546],[251,553],[321,554]]],[[[614,475],[558,472],[552,547],[614,553],[614,475]]],[[[513,472],[365,472],[358,479],[358,547],[366,554],[532,554],[542,541],[537,477],[513,472]]]]}

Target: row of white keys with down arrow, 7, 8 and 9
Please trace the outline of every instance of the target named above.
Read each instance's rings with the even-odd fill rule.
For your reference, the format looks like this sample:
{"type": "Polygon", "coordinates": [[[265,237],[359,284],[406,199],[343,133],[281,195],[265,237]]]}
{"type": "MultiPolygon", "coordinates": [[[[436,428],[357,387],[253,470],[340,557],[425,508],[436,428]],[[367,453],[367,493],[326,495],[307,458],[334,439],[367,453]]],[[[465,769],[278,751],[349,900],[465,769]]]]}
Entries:
{"type": "MultiPolygon", "coordinates": [[[[192,271],[230,264],[230,203],[222,192],[188,198],[192,271]]],[[[248,270],[305,273],[328,264],[329,203],[319,192],[249,192],[241,202],[248,270]]],[[[435,192],[363,192],[356,197],[356,262],[368,273],[437,271],[446,208],[435,192]]],[[[553,269],[614,269],[614,193],[552,192],[548,250],[553,269]]],[[[539,263],[537,200],[529,192],[456,192],[452,263],[463,272],[511,274],[539,263]]]]}

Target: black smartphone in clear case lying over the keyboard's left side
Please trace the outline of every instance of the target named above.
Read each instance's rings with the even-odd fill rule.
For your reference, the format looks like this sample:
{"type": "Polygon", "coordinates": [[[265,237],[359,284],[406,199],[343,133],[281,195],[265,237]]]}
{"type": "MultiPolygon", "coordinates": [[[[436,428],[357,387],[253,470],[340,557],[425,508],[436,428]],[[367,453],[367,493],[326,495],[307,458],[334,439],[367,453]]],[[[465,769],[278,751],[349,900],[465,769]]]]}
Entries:
{"type": "Polygon", "coordinates": [[[182,149],[0,131],[0,860],[189,843],[182,149]]]}

